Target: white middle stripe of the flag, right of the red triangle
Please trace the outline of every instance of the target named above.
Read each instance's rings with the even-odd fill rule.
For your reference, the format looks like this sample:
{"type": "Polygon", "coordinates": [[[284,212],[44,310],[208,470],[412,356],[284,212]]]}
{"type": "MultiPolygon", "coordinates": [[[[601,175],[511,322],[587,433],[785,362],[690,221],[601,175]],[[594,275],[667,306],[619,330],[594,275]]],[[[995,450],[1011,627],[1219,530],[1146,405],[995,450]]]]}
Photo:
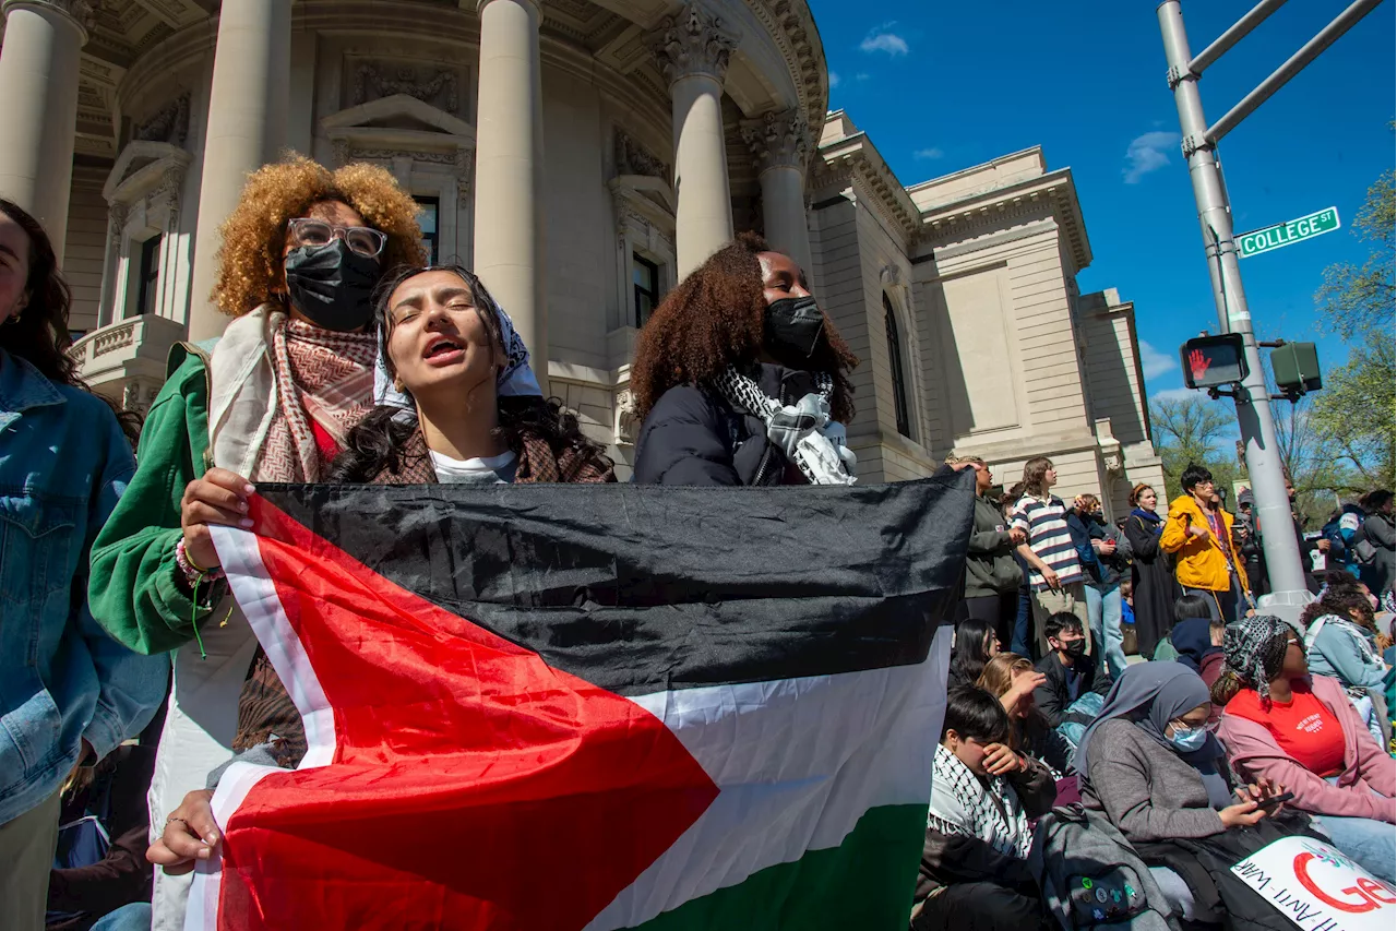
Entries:
{"type": "Polygon", "coordinates": [[[921,665],[633,699],[662,720],[718,798],[587,925],[615,931],[838,847],[882,805],[928,805],[946,714],[951,628],[921,665]]]}

